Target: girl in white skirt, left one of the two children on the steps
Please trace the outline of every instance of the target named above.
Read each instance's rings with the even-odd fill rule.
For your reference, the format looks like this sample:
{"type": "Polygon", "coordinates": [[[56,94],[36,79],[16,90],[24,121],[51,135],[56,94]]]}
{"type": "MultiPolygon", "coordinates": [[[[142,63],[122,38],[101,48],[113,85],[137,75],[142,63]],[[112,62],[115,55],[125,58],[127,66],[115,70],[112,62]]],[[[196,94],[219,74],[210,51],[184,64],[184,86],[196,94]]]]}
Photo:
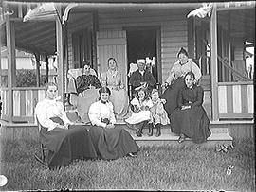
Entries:
{"type": "Polygon", "coordinates": [[[150,108],[153,107],[153,103],[147,96],[146,89],[137,90],[131,105],[134,108],[133,113],[129,118],[125,119],[125,122],[134,125],[137,136],[141,137],[143,128],[149,127],[149,122],[152,119],[150,108]]]}

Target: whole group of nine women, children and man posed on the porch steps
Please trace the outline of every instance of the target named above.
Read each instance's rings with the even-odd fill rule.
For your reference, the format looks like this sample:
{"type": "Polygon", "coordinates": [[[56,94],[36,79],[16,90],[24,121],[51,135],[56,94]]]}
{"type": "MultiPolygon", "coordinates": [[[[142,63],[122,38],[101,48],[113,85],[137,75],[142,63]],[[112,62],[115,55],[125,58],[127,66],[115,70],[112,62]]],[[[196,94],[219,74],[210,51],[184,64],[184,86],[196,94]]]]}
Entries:
{"type": "Polygon", "coordinates": [[[161,125],[170,124],[171,130],[180,135],[179,143],[186,137],[195,143],[206,141],[210,136],[210,120],[202,107],[204,91],[197,85],[200,69],[188,60],[188,53],[183,48],[177,58],[164,84],[166,90],[162,96],[155,89],[156,80],[145,68],[145,61],[137,61],[138,69],[130,77],[135,97],[131,100],[133,113],[129,116],[129,100],[115,59],[108,60],[109,70],[101,75],[101,82],[88,73],[90,67],[86,63],[84,74],[76,81],[78,92],[85,96],[79,102],[81,112],[87,114],[91,123],[87,127],[84,124],[74,125],[68,120],[63,104],[56,101],[56,84],[48,83],[46,99],[35,109],[38,122],[43,127],[40,130],[42,143],[49,149],[48,166],[65,166],[73,159],[114,160],[127,155],[136,156],[139,148],[133,137],[115,125],[117,114],[128,117],[125,121],[136,130],[137,136],[142,135],[143,128],[148,128],[148,135],[152,136],[154,127],[156,136],[159,136],[161,125]],[[89,89],[91,86],[95,88],[89,89]],[[99,95],[99,100],[96,100],[99,95]],[[127,108],[126,112],[124,108],[127,108]]]}

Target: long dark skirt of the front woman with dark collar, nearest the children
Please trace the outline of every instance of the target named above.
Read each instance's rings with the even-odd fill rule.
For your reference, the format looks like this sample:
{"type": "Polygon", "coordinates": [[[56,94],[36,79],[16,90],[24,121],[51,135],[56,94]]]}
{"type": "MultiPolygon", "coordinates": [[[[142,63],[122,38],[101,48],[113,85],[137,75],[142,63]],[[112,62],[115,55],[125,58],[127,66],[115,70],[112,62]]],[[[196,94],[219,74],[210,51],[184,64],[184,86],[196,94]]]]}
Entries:
{"type": "Polygon", "coordinates": [[[90,127],[90,135],[97,154],[104,160],[115,160],[128,153],[137,153],[138,146],[128,131],[116,127],[113,129],[90,127]]]}

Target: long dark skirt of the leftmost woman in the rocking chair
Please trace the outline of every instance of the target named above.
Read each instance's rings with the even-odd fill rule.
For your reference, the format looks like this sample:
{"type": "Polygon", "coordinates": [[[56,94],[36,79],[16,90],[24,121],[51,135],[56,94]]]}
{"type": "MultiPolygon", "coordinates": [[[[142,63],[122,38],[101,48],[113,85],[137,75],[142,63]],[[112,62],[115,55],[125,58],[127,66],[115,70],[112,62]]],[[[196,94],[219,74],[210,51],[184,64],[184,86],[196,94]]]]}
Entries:
{"type": "Polygon", "coordinates": [[[68,130],[55,128],[40,130],[42,143],[48,149],[46,162],[49,168],[67,166],[75,159],[96,159],[89,131],[83,125],[71,125],[68,130]]]}

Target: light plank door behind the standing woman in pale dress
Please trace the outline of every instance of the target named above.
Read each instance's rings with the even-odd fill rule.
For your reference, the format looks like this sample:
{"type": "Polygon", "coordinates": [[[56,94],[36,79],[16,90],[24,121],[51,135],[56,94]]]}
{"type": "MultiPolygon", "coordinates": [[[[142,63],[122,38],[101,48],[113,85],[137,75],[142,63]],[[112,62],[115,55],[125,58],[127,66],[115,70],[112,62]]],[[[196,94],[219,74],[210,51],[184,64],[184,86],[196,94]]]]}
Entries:
{"type": "MultiPolygon", "coordinates": [[[[109,30],[97,32],[97,64],[98,75],[107,71],[109,58],[115,58],[123,82],[127,85],[127,52],[126,31],[109,30]]],[[[125,87],[127,90],[127,87],[125,87]]]]}

